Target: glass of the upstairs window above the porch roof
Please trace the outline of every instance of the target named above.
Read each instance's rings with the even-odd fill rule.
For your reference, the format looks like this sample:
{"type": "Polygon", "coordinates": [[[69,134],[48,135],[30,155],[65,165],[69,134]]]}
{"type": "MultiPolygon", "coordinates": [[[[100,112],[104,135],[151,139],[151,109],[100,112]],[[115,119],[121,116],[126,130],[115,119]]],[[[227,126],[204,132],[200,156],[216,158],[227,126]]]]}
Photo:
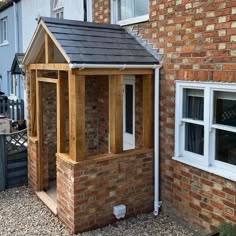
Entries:
{"type": "Polygon", "coordinates": [[[148,0],[118,0],[118,20],[143,16],[148,12],[148,0]]]}

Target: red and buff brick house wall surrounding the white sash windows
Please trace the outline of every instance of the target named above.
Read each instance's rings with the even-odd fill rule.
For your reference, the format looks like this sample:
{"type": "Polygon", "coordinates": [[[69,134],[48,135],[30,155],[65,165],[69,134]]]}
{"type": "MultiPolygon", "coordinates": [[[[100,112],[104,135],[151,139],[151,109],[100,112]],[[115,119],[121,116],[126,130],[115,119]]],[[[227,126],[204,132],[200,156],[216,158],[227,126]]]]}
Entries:
{"type": "MultiPolygon", "coordinates": [[[[94,21],[110,22],[110,0],[94,0],[94,21]]],[[[236,2],[150,0],[134,27],[164,54],[160,81],[161,199],[198,228],[236,223],[236,183],[172,160],[175,80],[236,81],[236,2]]]]}

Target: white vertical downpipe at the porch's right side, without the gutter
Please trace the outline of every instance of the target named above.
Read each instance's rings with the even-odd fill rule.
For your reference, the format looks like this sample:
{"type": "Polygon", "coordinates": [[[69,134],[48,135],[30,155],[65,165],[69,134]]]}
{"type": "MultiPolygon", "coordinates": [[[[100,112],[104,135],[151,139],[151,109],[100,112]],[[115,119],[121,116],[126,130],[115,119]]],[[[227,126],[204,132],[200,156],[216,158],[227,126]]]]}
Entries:
{"type": "Polygon", "coordinates": [[[155,69],[155,120],[154,120],[154,211],[155,216],[159,215],[161,207],[159,199],[159,83],[160,83],[160,66],[155,69]]]}

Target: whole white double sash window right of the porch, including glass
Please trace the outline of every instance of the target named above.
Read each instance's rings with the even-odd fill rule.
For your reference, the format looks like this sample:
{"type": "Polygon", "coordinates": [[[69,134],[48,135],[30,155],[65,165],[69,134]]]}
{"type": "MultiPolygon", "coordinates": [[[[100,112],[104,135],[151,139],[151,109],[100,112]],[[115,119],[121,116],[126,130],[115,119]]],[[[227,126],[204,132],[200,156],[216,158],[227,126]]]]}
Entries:
{"type": "Polygon", "coordinates": [[[236,181],[236,84],[176,81],[175,156],[236,181]]]}

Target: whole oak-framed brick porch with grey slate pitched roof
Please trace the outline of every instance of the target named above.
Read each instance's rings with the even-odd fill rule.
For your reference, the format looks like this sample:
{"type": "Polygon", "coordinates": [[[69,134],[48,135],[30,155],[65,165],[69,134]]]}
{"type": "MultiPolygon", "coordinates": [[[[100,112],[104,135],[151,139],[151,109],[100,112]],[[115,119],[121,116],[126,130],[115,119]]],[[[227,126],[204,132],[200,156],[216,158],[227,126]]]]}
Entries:
{"type": "Polygon", "coordinates": [[[23,59],[29,186],[73,232],[114,222],[117,205],[153,210],[159,59],[118,25],[39,22],[23,59]]]}

